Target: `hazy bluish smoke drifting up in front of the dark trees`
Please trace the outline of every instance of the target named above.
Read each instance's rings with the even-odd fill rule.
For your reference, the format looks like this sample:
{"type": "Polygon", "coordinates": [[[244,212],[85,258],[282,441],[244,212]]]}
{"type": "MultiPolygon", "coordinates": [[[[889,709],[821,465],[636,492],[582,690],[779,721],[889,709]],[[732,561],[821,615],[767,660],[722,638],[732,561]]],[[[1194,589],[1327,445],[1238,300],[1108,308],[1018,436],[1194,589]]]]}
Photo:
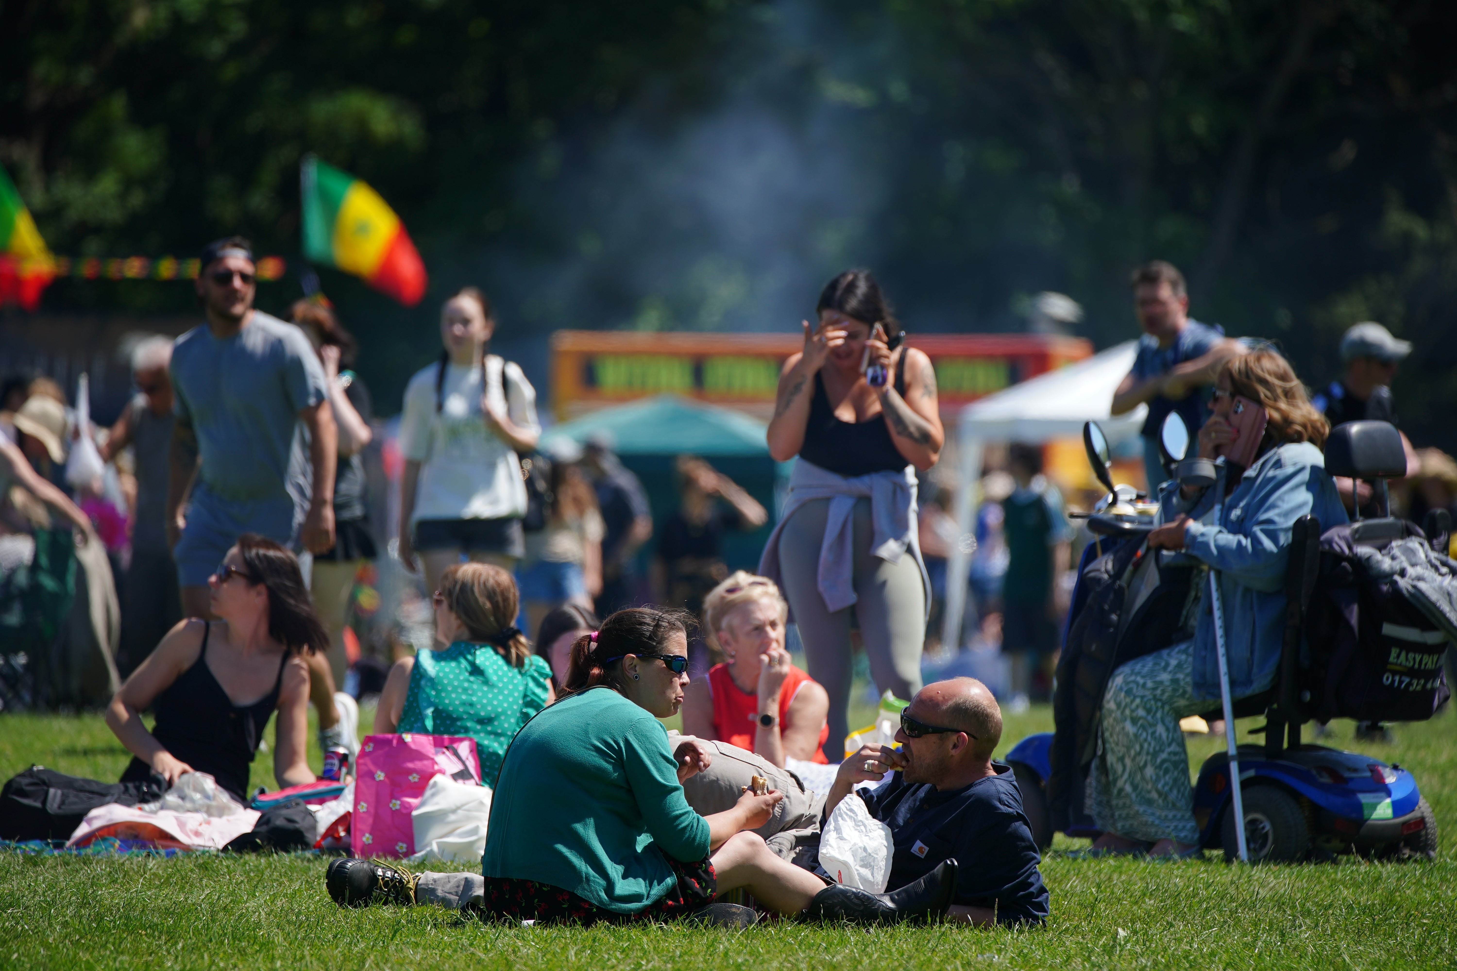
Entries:
{"type": "Polygon", "coordinates": [[[884,166],[865,128],[886,95],[847,80],[847,51],[817,10],[782,3],[723,54],[705,109],[650,90],[610,127],[551,140],[519,185],[557,252],[508,240],[487,261],[525,325],[507,333],[791,330],[829,277],[874,266],[884,166]]]}

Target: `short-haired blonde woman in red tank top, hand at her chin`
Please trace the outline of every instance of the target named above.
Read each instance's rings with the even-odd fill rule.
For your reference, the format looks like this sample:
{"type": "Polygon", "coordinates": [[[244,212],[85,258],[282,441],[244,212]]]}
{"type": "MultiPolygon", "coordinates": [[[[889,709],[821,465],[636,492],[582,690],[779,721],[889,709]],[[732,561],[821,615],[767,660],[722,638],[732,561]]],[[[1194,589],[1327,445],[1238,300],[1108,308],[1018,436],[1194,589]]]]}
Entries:
{"type": "Polygon", "coordinates": [[[829,694],[790,664],[788,606],[774,581],[737,571],[704,598],[704,635],[727,661],[683,693],[683,732],[747,748],[775,766],[825,763],[829,694]]]}

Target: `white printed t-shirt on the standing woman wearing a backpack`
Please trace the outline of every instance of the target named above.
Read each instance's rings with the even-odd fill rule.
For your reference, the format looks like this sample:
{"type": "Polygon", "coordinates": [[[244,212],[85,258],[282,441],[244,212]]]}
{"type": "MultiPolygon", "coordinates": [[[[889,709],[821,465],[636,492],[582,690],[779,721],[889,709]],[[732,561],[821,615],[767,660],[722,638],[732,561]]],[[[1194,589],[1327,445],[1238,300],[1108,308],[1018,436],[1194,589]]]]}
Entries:
{"type": "Polygon", "coordinates": [[[420,520],[501,520],[526,514],[520,463],[481,412],[481,390],[523,429],[539,429],[536,390],[514,362],[491,354],[482,367],[446,365],[441,408],[436,411],[440,365],[421,368],[405,387],[399,451],[420,463],[415,508],[420,520]]]}

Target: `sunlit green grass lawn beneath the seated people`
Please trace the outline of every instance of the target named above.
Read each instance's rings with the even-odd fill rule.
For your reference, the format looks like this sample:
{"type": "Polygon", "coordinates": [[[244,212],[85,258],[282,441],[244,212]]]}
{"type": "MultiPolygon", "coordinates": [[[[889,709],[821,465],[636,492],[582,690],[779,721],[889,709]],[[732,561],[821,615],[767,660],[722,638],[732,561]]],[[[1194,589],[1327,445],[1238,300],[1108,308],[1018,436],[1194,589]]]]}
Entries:
{"type": "MultiPolygon", "coordinates": [[[[1034,708],[1007,722],[1004,750],[1050,728],[1050,713],[1034,708]]],[[[0,968],[1453,967],[1457,718],[1399,726],[1391,747],[1355,744],[1349,722],[1336,731],[1329,744],[1416,773],[1441,827],[1437,862],[1246,869],[1214,855],[1202,863],[1075,860],[1065,852],[1081,841],[1058,837],[1042,869],[1052,891],[1045,930],[768,923],[733,935],[682,926],[500,927],[431,907],[344,911],[325,894],[325,860],[313,856],[0,853],[0,968]]],[[[1190,764],[1217,748],[1220,740],[1195,740],[1190,764]]],[[[319,753],[310,758],[318,767],[319,753]]],[[[0,716],[0,779],[32,763],[114,779],[125,761],[99,715],[0,716]]],[[[272,788],[270,761],[259,754],[256,785],[272,788]]]]}

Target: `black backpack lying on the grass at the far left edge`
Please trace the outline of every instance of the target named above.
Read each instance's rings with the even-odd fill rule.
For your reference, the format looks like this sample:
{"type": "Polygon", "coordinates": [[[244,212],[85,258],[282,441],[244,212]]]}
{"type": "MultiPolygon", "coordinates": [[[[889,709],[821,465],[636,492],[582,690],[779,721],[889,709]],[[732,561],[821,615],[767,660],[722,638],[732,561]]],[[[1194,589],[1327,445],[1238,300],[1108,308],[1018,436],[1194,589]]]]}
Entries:
{"type": "Polygon", "coordinates": [[[146,782],[96,782],[31,766],[0,789],[0,840],[68,840],[96,806],[156,802],[165,792],[160,776],[146,782]]]}

